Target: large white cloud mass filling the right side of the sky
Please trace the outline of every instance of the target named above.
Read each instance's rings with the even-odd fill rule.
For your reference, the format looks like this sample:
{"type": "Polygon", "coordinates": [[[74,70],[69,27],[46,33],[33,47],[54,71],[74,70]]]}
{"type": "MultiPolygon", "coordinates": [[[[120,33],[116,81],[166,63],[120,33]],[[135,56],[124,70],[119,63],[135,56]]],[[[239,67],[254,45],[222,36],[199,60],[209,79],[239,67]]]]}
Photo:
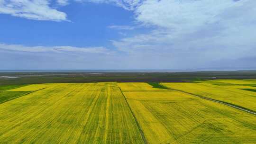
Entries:
{"type": "Polygon", "coordinates": [[[155,28],[112,44],[144,61],[179,68],[256,57],[255,5],[255,0],[145,0],[135,9],[136,20],[155,28]]]}

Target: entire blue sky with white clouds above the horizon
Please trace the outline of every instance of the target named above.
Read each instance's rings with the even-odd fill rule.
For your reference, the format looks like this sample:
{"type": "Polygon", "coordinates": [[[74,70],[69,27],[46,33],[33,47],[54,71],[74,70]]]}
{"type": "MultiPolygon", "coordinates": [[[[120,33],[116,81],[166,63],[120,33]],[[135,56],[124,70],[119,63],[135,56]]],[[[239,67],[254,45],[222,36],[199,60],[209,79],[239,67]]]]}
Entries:
{"type": "Polygon", "coordinates": [[[0,0],[0,70],[256,69],[256,0],[0,0]]]}

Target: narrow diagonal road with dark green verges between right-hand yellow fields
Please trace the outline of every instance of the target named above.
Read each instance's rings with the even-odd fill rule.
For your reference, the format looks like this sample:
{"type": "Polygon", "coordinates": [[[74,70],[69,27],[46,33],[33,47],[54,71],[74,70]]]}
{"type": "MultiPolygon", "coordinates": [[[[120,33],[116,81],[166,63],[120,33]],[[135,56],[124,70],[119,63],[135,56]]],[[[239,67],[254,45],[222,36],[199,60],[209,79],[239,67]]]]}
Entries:
{"type": "MultiPolygon", "coordinates": [[[[161,85],[162,85],[162,84],[161,84],[161,85]]],[[[170,89],[170,90],[177,90],[177,89],[173,89],[173,88],[169,88],[169,89],[170,89]]],[[[225,101],[221,101],[221,100],[217,100],[217,99],[211,99],[211,98],[203,97],[203,96],[200,96],[200,95],[197,95],[197,94],[193,94],[193,93],[190,93],[190,92],[186,92],[186,91],[183,91],[183,90],[177,90],[177,91],[181,91],[181,92],[190,94],[190,95],[192,95],[192,96],[199,97],[199,98],[201,98],[201,99],[207,99],[207,100],[210,100],[210,101],[213,101],[213,102],[217,102],[217,103],[220,103],[220,104],[223,104],[223,105],[232,107],[232,108],[236,108],[236,109],[245,111],[245,112],[250,113],[250,114],[253,114],[253,115],[256,115],[256,111],[254,111],[254,110],[251,110],[251,109],[248,109],[248,108],[244,108],[244,107],[241,107],[241,106],[238,106],[238,105],[229,103],[229,102],[225,102],[225,101]]]]}

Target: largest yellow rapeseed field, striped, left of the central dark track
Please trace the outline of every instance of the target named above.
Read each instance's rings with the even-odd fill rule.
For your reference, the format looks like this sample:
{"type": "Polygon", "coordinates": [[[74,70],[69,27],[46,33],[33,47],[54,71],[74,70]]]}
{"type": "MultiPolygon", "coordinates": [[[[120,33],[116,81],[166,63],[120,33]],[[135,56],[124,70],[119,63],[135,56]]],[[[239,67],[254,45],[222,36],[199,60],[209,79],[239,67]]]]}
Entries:
{"type": "Polygon", "coordinates": [[[117,83],[17,90],[38,91],[0,104],[0,144],[143,144],[117,83]]]}

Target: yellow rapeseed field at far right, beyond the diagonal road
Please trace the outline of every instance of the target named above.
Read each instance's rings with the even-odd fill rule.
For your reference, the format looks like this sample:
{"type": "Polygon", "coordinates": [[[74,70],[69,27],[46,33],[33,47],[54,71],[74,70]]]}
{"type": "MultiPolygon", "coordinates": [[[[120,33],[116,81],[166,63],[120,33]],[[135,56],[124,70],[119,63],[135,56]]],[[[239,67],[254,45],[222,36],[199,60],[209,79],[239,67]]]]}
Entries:
{"type": "Polygon", "coordinates": [[[209,83],[162,83],[166,87],[194,95],[217,99],[256,111],[256,92],[209,83]]]}

